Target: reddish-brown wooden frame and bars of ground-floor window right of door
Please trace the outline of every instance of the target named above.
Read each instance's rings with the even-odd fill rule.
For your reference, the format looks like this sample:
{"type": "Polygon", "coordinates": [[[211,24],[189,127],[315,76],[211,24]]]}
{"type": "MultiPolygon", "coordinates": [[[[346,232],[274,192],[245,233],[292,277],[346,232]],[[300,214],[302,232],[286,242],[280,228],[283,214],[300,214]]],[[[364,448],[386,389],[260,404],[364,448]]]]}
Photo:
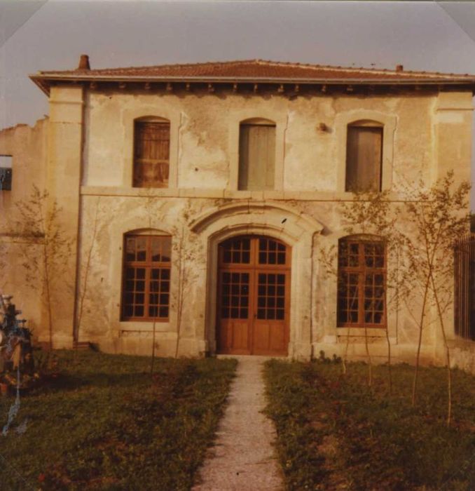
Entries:
{"type": "MultiPolygon", "coordinates": [[[[340,238],[338,241],[338,278],[337,278],[337,298],[336,298],[336,321],[338,328],[376,328],[376,329],[386,329],[387,328],[387,306],[386,306],[386,291],[387,291],[387,248],[385,243],[380,238],[371,238],[365,236],[350,236],[340,238]],[[344,243],[347,243],[346,250],[348,251],[348,255],[346,257],[346,265],[342,265],[344,257],[342,257],[342,248],[344,243]],[[355,266],[350,266],[350,244],[358,244],[358,264],[355,266]],[[383,247],[383,267],[370,267],[366,264],[366,254],[364,250],[365,245],[380,245],[383,247]],[[358,300],[357,307],[357,322],[345,322],[340,321],[340,301],[344,298],[347,299],[346,295],[343,297],[343,274],[353,274],[358,276],[357,281],[357,297],[355,300],[358,300]],[[368,287],[366,285],[366,275],[367,274],[382,274],[383,275],[383,298],[377,299],[376,297],[366,297],[365,288],[368,287]],[[342,295],[340,297],[340,295],[342,295]],[[380,300],[383,302],[383,310],[381,311],[381,322],[380,323],[371,323],[364,321],[366,310],[365,310],[365,301],[375,302],[376,300],[380,300]]],[[[369,287],[368,287],[369,288],[369,287]]],[[[376,287],[374,287],[376,288],[376,287]]],[[[346,290],[345,290],[346,293],[346,290]]],[[[347,312],[350,309],[346,309],[347,312]]],[[[372,311],[373,315],[375,310],[372,311]]]]}

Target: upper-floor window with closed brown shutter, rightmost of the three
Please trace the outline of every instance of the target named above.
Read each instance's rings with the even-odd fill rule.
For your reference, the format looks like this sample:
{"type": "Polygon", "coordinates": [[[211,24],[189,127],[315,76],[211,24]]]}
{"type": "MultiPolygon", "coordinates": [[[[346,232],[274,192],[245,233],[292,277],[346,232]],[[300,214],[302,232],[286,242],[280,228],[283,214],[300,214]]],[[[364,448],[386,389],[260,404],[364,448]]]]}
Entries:
{"type": "Polygon", "coordinates": [[[347,126],[345,191],[380,191],[383,125],[357,121],[347,126]]]}

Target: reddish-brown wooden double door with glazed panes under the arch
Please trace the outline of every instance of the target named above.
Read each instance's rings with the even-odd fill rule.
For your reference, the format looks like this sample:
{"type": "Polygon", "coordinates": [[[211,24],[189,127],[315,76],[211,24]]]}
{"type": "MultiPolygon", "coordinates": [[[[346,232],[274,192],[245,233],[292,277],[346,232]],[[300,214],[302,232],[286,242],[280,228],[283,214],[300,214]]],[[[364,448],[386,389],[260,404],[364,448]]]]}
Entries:
{"type": "Polygon", "coordinates": [[[291,249],[275,238],[239,236],[219,245],[219,353],[286,356],[291,249]]]}

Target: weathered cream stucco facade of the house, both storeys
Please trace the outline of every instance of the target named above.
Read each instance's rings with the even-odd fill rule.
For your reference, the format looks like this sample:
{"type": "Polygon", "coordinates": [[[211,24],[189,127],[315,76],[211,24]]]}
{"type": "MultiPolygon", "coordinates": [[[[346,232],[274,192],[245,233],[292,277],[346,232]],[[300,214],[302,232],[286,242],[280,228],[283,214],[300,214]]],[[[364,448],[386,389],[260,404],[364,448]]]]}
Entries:
{"type": "MultiPolygon", "coordinates": [[[[342,354],[348,330],[336,328],[336,278],[324,274],[319,250],[345,235],[338,199],[351,198],[344,192],[347,124],[360,119],[384,124],[383,188],[394,200],[407,184],[422,179],[429,186],[448,168],[455,169],[457,179],[469,176],[470,93],[289,99],[56,86],[50,102],[49,130],[43,131],[45,123],[39,131],[43,140],[34,138],[42,142],[41,159],[35,159],[35,147],[23,149],[19,159],[18,149],[14,166],[17,175],[28,176],[29,165],[35,169],[62,206],[62,227],[72,238],[67,272],[55,289],[55,342],[63,346],[71,344],[76,328],[80,341],[97,342],[106,351],[151,354],[155,328],[156,353],[173,356],[182,271],[193,281],[186,286],[181,312],[179,354],[213,352],[217,245],[233,235],[261,234],[292,248],[289,356],[318,356],[321,349],[327,356],[342,354]],[[132,187],[133,123],[143,116],[170,120],[168,189],[132,187]],[[252,117],[276,123],[274,191],[237,190],[239,123],[252,117]],[[170,321],[155,326],[121,321],[123,235],[137,230],[172,236],[170,321]],[[189,250],[185,264],[179,262],[182,245],[189,250]]],[[[16,132],[26,131],[22,128],[16,132]]],[[[20,135],[19,141],[29,138],[20,135]]],[[[13,141],[11,130],[0,133],[2,141],[13,141]]],[[[410,308],[409,313],[400,305],[389,313],[392,354],[406,361],[415,354],[418,300],[410,308]]],[[[443,363],[433,317],[429,311],[422,356],[427,363],[443,363]]],[[[453,323],[448,330],[459,342],[453,323]]],[[[39,332],[47,336],[44,325],[39,332]]],[[[350,329],[353,358],[365,356],[363,336],[362,330],[350,329]]],[[[372,330],[370,344],[374,359],[385,361],[385,332],[372,330]]],[[[471,344],[462,345],[454,348],[454,363],[470,368],[471,344]]]]}

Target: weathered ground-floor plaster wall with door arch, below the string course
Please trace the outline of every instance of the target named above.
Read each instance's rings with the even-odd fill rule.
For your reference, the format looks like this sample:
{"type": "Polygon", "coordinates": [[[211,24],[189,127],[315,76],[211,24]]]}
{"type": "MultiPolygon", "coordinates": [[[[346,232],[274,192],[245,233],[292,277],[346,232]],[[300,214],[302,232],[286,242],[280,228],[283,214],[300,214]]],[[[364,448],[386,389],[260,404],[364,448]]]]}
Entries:
{"type": "MultiPolygon", "coordinates": [[[[318,356],[320,350],[327,355],[343,355],[346,349],[350,357],[364,358],[364,330],[336,327],[336,278],[325,273],[320,261],[320,249],[337,245],[338,238],[345,235],[341,232],[340,215],[335,203],[305,205],[178,196],[157,199],[83,195],[78,269],[81,286],[76,299],[78,311],[82,312],[79,339],[97,342],[106,351],[149,355],[155,329],[156,354],[174,356],[179,314],[179,246],[184,243],[186,262],[181,271],[189,281],[186,302],[181,308],[179,354],[214,352],[217,245],[230,236],[265,234],[280,238],[292,248],[289,356],[308,358],[312,354],[318,356]],[[208,215],[209,218],[200,218],[208,215]],[[308,222],[305,227],[302,220],[308,222]],[[129,231],[172,236],[170,321],[158,321],[154,326],[151,322],[120,320],[123,234],[129,231]]],[[[394,264],[394,258],[389,261],[394,264]]],[[[401,360],[411,361],[415,353],[420,300],[414,297],[411,313],[405,306],[390,310],[390,342],[393,355],[401,360]]],[[[373,329],[368,335],[374,360],[384,363],[385,331],[373,329]]],[[[427,363],[434,361],[431,328],[424,331],[422,358],[427,363]]]]}

